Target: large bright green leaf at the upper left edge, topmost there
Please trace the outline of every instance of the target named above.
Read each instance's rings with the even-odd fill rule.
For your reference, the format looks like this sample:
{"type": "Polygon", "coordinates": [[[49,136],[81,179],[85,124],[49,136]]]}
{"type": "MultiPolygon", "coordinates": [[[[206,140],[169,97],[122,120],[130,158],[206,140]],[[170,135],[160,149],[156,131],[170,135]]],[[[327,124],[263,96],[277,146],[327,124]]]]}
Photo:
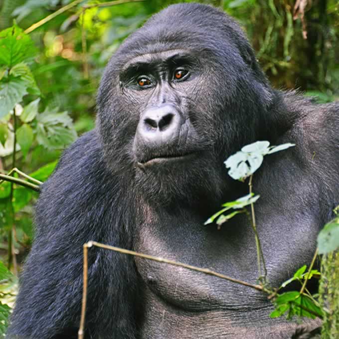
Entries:
{"type": "Polygon", "coordinates": [[[0,64],[8,68],[31,58],[35,53],[33,41],[17,25],[0,32],[0,64]]]}

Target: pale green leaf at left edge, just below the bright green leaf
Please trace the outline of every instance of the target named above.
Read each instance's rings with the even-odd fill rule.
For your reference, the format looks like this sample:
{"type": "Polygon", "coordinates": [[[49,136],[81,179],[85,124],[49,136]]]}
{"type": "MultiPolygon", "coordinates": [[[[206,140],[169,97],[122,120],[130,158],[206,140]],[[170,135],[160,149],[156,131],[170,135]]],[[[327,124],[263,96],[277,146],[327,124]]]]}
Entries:
{"type": "Polygon", "coordinates": [[[0,82],[0,119],[9,113],[27,94],[27,83],[17,78],[7,78],[8,81],[0,82]]]}

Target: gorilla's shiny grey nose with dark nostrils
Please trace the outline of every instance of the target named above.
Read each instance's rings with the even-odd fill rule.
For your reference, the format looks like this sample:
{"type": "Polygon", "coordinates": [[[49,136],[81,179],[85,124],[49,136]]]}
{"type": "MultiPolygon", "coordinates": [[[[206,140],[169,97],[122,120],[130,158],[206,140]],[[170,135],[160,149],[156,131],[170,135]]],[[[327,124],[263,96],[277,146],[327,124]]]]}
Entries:
{"type": "Polygon", "coordinates": [[[139,124],[139,133],[145,142],[166,144],[179,136],[183,119],[171,105],[149,108],[139,124]]]}

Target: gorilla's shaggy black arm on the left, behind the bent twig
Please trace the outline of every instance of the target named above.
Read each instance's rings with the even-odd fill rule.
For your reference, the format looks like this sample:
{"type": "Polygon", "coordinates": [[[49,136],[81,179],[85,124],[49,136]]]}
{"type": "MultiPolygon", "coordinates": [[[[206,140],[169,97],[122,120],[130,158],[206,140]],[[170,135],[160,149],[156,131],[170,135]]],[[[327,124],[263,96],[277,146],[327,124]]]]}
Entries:
{"type": "MultiPolygon", "coordinates": [[[[95,131],[64,152],[42,186],[35,241],[20,279],[6,338],[76,338],[83,244],[96,240],[131,247],[131,230],[127,230],[131,216],[117,207],[117,201],[123,205],[121,191],[121,183],[114,182],[105,170],[95,131]]],[[[133,258],[92,248],[88,277],[88,337],[134,338],[133,258]]]]}

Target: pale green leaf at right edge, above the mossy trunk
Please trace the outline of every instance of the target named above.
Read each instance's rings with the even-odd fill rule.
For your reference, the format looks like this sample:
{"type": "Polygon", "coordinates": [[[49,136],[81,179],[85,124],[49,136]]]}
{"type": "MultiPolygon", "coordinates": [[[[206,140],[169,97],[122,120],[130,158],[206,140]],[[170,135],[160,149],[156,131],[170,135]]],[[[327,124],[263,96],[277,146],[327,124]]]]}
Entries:
{"type": "Polygon", "coordinates": [[[339,248],[339,218],[325,225],[318,235],[320,254],[327,254],[339,248]]]}

